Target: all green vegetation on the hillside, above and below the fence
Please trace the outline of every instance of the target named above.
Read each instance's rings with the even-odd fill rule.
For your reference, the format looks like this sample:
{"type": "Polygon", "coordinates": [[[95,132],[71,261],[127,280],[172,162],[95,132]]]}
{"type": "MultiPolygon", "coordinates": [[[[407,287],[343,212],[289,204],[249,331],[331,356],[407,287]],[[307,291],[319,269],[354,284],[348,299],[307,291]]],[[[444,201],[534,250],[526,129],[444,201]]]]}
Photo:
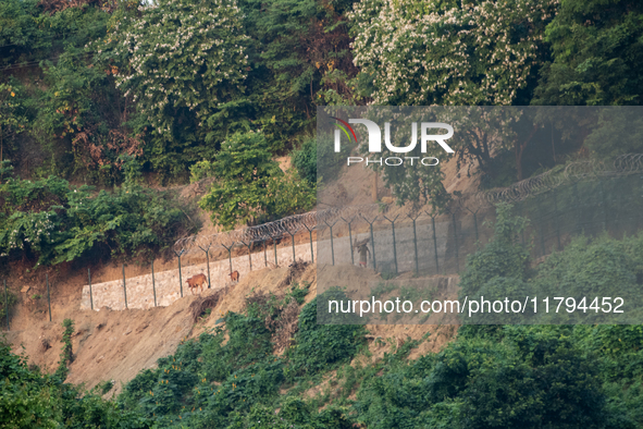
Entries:
{"type": "MultiPolygon", "coordinates": [[[[152,182],[209,179],[200,207],[224,229],[309,210],[346,156],[326,136],[316,143],[322,105],[640,106],[642,37],[639,0],[2,0],[0,256],[38,267],[158,254],[198,225],[152,182]],[[280,156],[294,168],[283,172],[280,156]],[[318,156],[333,163],[319,166],[326,177],[318,156]]],[[[518,119],[494,118],[502,144],[486,144],[489,130],[462,133],[455,156],[502,186],[579,156],[643,151],[629,132],[640,115],[607,115],[591,126],[546,119],[567,134],[555,150],[531,144],[535,130],[518,119]]],[[[396,172],[383,179],[398,203],[449,201],[438,168],[396,172]]],[[[619,183],[581,187],[603,198],[619,183]]],[[[559,192],[577,208],[567,221],[596,223],[576,191],[559,192]]],[[[623,211],[636,204],[619,200],[623,211]]],[[[640,293],[643,236],[576,238],[533,268],[525,226],[498,208],[463,294],[640,293]]],[[[345,292],[299,309],[307,290],[249,297],[245,314],[226,314],[112,401],[99,396],[111,381],[94,392],[64,383],[72,320],[53,375],[1,342],[0,426],[643,427],[641,326],[465,326],[440,353],[409,360],[418,342],[407,341],[360,364],[366,329],[318,314],[345,292]]]]}

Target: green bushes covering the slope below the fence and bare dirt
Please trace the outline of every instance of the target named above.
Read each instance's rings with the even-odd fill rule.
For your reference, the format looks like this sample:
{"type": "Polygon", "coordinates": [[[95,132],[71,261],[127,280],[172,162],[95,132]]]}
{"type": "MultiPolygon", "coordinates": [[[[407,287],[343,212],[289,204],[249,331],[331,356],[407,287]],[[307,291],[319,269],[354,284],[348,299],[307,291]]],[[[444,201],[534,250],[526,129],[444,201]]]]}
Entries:
{"type": "MultiPolygon", "coordinates": [[[[463,289],[489,277],[486,267],[478,263],[482,256],[522,252],[520,245],[503,241],[511,233],[507,226],[519,225],[520,220],[502,213],[499,219],[497,240],[469,258],[463,289]]],[[[613,277],[602,281],[621,281],[625,273],[640,283],[642,246],[643,236],[597,238],[570,245],[533,272],[509,269],[503,275],[544,283],[594,275],[593,265],[578,262],[595,255],[597,262],[613,267],[605,272],[613,277]],[[618,248],[622,257],[614,259],[605,248],[618,248]]],[[[343,295],[330,293],[333,298],[343,295]]],[[[370,354],[367,332],[355,324],[318,324],[317,301],[325,298],[320,295],[304,306],[293,344],[276,356],[275,327],[288,304],[302,303],[306,294],[306,285],[294,284],[283,298],[250,296],[246,312],[228,312],[220,328],[183,342],[174,355],[140,372],[112,401],[82,395],[63,383],[60,371],[46,376],[29,369],[25,358],[3,345],[0,415],[14,416],[16,422],[39,421],[41,427],[55,427],[52,421],[87,427],[79,421],[90,416],[89,427],[106,428],[643,425],[641,326],[466,326],[437,354],[409,360],[418,342],[408,341],[399,350],[393,346],[375,364],[361,365],[357,359],[351,366],[355,357],[370,354]],[[318,395],[301,396],[329,376],[331,382],[318,395]],[[47,407],[53,397],[55,406],[47,407]]]]}

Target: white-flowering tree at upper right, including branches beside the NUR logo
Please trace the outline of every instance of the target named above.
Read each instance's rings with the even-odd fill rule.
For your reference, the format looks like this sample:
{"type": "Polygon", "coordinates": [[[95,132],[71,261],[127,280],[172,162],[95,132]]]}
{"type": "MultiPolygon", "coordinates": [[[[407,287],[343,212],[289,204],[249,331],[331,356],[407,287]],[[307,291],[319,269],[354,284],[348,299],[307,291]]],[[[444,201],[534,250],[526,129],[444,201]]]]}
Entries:
{"type": "MultiPolygon", "coordinates": [[[[356,79],[373,106],[510,106],[529,103],[547,54],[545,27],[559,0],[362,0],[349,19],[356,79]]],[[[490,118],[442,120],[460,125],[452,139],[458,166],[478,166],[487,176],[493,159],[521,147],[506,118],[498,133],[490,118]],[[465,126],[466,124],[466,126],[465,126]]],[[[446,114],[446,117],[445,117],[446,114]]],[[[528,136],[529,137],[529,136],[528,136]]],[[[518,154],[518,152],[517,152],[518,154]]],[[[520,151],[522,154],[522,151],[520,151]]],[[[520,157],[516,157],[518,170],[520,157]]],[[[372,166],[378,169],[376,166],[372,166]]],[[[398,203],[417,201],[419,187],[431,204],[444,206],[438,168],[385,174],[398,203]],[[422,175],[418,177],[417,175],[422,175]],[[404,189],[416,189],[404,191],[404,189]]],[[[468,173],[470,170],[467,170],[468,173]]],[[[520,170],[519,170],[520,171],[520,170]]]]}

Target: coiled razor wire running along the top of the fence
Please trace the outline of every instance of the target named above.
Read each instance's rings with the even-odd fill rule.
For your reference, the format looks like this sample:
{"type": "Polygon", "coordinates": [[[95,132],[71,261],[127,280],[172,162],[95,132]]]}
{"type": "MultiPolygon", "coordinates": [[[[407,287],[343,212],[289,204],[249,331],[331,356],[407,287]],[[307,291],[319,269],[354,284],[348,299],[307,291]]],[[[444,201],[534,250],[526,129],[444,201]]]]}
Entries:
{"type": "MultiPolygon", "coordinates": [[[[498,203],[522,201],[530,196],[545,193],[564,183],[635,173],[643,173],[643,154],[623,155],[616,158],[614,162],[602,162],[597,160],[571,162],[565,169],[549,170],[508,187],[462,194],[452,203],[449,211],[461,211],[466,209],[474,213],[482,208],[493,207],[498,203]]],[[[353,219],[358,218],[374,219],[378,213],[381,213],[381,206],[379,204],[332,207],[324,210],[288,216],[274,222],[256,226],[208,235],[191,235],[176,241],[174,252],[177,255],[186,255],[208,252],[218,247],[231,249],[234,246],[249,245],[251,243],[274,242],[301,232],[310,233],[313,230],[318,230],[318,226],[332,225],[339,220],[350,222],[353,219]]]]}

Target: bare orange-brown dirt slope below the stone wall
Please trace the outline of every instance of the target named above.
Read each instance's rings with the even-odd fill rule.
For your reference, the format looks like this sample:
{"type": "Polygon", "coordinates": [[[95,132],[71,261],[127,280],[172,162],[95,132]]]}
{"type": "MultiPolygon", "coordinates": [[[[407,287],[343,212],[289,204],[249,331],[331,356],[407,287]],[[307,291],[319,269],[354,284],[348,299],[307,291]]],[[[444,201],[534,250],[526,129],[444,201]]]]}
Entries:
{"type": "MultiPolygon", "coordinates": [[[[326,267],[329,271],[335,267],[326,267]]],[[[368,282],[379,279],[379,274],[358,267],[342,267],[343,280],[349,284],[368,282]]],[[[337,270],[339,273],[339,270],[337,270]]],[[[339,274],[337,274],[339,275],[339,274]]],[[[18,306],[12,320],[12,330],[8,340],[14,345],[16,353],[21,345],[29,357],[29,363],[53,371],[61,353],[62,327],[64,318],[75,322],[76,333],[73,338],[74,361],[70,366],[69,382],[84,383],[91,389],[106,380],[114,380],[115,385],[108,395],[122,390],[122,385],[132,380],[139,371],[153,368],[157,359],[173,354],[182,341],[197,338],[202,332],[214,328],[221,315],[226,311],[243,311],[246,297],[254,293],[283,294],[289,289],[286,281],[288,268],[263,269],[254,271],[221,292],[218,305],[210,316],[195,322],[190,304],[197,296],[186,296],[169,307],[150,310],[112,311],[107,308],[100,311],[81,311],[79,295],[59,297],[52,302],[52,322],[47,312],[29,307],[25,302],[18,306]]],[[[317,294],[316,266],[309,265],[295,279],[299,284],[310,285],[307,302],[317,294]]],[[[217,293],[207,290],[203,295],[217,293]]],[[[428,331],[429,341],[412,352],[417,357],[428,352],[438,351],[455,333],[449,326],[367,326],[370,331],[370,348],[372,359],[378,359],[392,347],[399,346],[408,338],[419,340],[428,331]],[[384,341],[373,341],[381,338],[384,341]]]]}

